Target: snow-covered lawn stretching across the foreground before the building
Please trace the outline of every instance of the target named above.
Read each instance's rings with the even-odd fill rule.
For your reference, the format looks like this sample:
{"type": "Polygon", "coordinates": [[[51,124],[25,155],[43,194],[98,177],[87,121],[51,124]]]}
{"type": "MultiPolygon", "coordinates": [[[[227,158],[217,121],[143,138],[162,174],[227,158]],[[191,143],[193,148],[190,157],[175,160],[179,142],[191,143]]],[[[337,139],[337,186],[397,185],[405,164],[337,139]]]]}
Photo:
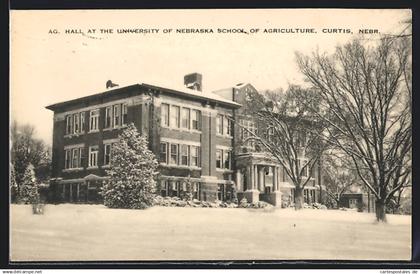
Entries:
{"type": "Polygon", "coordinates": [[[411,217],[305,209],[11,206],[11,259],[281,260],[411,258],[411,217]]]}

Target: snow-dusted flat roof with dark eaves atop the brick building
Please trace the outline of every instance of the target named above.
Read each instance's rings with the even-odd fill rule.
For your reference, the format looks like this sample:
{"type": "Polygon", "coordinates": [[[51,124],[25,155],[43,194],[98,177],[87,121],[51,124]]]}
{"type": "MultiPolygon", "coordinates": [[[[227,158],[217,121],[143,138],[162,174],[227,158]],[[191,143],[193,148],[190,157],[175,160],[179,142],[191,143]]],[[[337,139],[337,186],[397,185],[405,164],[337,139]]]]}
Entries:
{"type": "Polygon", "coordinates": [[[167,94],[178,95],[187,99],[193,99],[193,100],[195,99],[195,100],[200,100],[200,101],[219,103],[221,105],[225,105],[225,106],[229,106],[233,108],[241,107],[240,104],[234,101],[225,99],[212,92],[207,93],[207,92],[192,90],[186,87],[178,87],[176,89],[173,89],[173,88],[163,87],[162,85],[152,85],[152,84],[141,83],[141,84],[134,84],[134,85],[123,86],[123,87],[114,87],[111,89],[107,89],[104,92],[95,93],[92,95],[83,96],[76,99],[48,105],[46,106],[46,108],[52,111],[56,111],[59,108],[82,103],[82,102],[85,102],[86,100],[106,98],[108,96],[117,95],[120,93],[126,93],[132,90],[140,91],[142,88],[148,89],[148,90],[157,90],[157,91],[167,93],[167,94]]]}

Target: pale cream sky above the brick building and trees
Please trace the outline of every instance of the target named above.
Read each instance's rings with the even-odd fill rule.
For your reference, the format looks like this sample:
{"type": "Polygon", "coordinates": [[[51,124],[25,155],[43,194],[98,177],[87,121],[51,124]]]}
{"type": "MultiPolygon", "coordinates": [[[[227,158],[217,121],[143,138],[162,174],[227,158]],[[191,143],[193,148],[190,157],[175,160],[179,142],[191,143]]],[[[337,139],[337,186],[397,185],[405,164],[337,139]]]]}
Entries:
{"type": "Polygon", "coordinates": [[[410,10],[392,9],[11,11],[11,120],[34,125],[36,136],[51,144],[53,113],[45,106],[104,92],[107,80],[176,89],[184,75],[198,72],[203,92],[243,82],[258,90],[287,88],[304,81],[295,52],[333,53],[356,37],[376,41],[399,33],[410,18],[410,10]],[[314,33],[263,32],[296,28],[314,33]],[[123,29],[159,31],[119,33],[123,29]]]}

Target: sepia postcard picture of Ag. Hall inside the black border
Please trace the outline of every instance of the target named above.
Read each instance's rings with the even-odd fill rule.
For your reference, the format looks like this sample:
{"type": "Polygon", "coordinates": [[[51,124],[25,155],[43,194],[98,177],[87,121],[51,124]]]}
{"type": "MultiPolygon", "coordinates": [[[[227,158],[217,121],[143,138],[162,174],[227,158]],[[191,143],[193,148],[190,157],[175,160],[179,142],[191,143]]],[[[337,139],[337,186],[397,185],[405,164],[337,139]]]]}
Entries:
{"type": "Polygon", "coordinates": [[[10,262],[412,260],[409,9],[10,11],[10,262]]]}

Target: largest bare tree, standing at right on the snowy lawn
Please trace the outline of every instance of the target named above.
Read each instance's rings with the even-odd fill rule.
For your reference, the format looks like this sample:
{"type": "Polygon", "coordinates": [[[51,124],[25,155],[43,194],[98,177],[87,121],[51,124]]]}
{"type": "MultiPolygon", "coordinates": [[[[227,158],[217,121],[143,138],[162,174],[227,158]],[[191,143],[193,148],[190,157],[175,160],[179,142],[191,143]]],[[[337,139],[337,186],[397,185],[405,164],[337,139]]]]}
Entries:
{"type": "Polygon", "coordinates": [[[355,40],[333,55],[297,54],[300,70],[327,110],[333,144],[349,155],[376,197],[376,218],[411,173],[411,48],[409,39],[384,38],[377,46],[355,40]],[[409,85],[408,85],[409,84],[409,85]]]}

